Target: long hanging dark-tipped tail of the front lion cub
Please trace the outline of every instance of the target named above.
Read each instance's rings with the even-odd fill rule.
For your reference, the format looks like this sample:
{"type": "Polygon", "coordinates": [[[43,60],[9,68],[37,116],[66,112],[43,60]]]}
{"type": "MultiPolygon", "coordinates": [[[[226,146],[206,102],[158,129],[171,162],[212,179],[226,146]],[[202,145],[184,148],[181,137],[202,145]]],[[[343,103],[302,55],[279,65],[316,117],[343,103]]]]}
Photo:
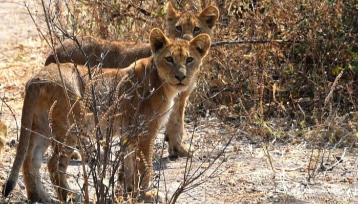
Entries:
{"type": "Polygon", "coordinates": [[[26,84],[25,100],[21,117],[20,138],[17,144],[16,157],[11,168],[10,176],[3,186],[4,197],[7,197],[14,189],[17,182],[18,173],[25,160],[25,155],[30,141],[34,109],[40,92],[39,84],[40,83],[33,83],[33,80],[28,81],[26,84]]]}

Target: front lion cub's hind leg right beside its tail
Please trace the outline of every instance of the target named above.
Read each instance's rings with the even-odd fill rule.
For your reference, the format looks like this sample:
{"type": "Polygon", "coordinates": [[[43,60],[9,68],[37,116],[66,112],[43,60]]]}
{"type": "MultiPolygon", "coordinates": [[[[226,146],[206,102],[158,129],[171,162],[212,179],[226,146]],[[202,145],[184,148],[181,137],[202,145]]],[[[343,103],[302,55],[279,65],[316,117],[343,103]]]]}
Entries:
{"type": "Polygon", "coordinates": [[[50,144],[50,141],[44,138],[44,136],[47,137],[49,133],[49,124],[46,118],[47,114],[42,114],[42,116],[39,114],[35,115],[28,152],[23,164],[27,197],[31,201],[45,201],[50,198],[50,195],[46,192],[41,183],[39,172],[43,154],[50,144]]]}

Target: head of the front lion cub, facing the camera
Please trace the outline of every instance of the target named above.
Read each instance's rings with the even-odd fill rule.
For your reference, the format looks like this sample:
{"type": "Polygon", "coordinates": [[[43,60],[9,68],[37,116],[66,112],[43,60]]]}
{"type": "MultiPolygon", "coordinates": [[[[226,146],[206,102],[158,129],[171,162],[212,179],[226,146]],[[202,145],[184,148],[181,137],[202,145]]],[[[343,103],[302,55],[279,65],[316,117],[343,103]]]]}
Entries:
{"type": "Polygon", "coordinates": [[[167,38],[153,29],[149,41],[159,77],[179,92],[195,82],[202,59],[210,48],[210,37],[200,34],[191,41],[167,38]]]}

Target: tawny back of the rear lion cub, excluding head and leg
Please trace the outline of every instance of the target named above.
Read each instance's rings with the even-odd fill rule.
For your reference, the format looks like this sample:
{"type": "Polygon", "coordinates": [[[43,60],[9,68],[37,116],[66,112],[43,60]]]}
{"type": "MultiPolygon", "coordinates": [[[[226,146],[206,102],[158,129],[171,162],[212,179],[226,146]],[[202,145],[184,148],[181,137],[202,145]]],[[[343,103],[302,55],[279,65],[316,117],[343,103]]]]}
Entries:
{"type": "MultiPolygon", "coordinates": [[[[83,52],[89,57],[91,67],[101,63],[103,68],[123,68],[138,59],[151,56],[149,43],[109,41],[93,36],[78,37],[78,42],[83,52]],[[101,61],[101,59],[103,60],[101,61]]],[[[64,40],[55,49],[60,63],[74,62],[85,65],[87,62],[85,55],[78,49],[76,42],[71,39],[64,40]]],[[[46,58],[45,66],[50,63],[56,63],[52,51],[46,58]]]]}

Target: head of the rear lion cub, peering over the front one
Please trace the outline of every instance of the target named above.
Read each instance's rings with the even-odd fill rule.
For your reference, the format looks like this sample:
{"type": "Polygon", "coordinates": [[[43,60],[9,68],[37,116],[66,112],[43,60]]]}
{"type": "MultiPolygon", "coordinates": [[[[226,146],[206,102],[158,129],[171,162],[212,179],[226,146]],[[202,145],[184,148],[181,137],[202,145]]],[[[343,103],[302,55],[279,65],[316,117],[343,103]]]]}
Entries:
{"type": "Polygon", "coordinates": [[[215,6],[208,6],[201,13],[180,12],[169,2],[166,7],[166,31],[171,37],[187,40],[202,33],[212,36],[218,18],[219,10],[215,6]]]}

